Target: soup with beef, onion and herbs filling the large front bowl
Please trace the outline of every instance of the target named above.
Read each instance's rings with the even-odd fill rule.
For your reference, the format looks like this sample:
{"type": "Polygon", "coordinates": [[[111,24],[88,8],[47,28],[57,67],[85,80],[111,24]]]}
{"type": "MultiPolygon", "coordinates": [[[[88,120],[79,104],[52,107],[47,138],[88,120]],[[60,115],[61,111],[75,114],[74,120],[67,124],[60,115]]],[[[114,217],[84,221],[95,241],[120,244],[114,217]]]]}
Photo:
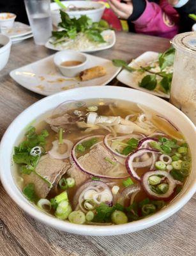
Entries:
{"type": "Polygon", "coordinates": [[[191,158],[167,118],[131,102],[69,100],[30,127],[13,160],[22,193],[42,211],[79,224],[122,224],[165,207],[191,158]]]}

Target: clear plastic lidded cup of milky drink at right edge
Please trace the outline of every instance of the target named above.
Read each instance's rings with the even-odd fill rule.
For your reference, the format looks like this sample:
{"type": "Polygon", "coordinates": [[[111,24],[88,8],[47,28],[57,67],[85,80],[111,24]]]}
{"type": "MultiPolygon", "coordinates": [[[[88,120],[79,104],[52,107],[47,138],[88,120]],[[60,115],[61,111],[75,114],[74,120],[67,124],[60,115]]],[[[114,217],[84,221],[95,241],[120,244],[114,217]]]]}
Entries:
{"type": "Polygon", "coordinates": [[[196,32],[176,35],[176,49],[170,102],[196,125],[196,32]]]}

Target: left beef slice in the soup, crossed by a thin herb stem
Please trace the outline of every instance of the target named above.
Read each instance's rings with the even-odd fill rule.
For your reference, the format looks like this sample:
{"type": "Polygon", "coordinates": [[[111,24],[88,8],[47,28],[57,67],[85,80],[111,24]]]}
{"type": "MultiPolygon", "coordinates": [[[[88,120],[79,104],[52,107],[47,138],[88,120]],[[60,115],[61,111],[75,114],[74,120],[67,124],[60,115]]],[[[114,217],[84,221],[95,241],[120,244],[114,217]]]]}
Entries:
{"type": "MultiPolygon", "coordinates": [[[[60,159],[51,159],[47,154],[40,158],[38,166],[36,167],[36,172],[48,179],[54,187],[64,173],[66,173],[68,168],[70,168],[70,161],[64,162],[60,159]]],[[[36,195],[40,198],[45,198],[50,192],[48,184],[34,173],[26,175],[25,182],[26,184],[34,184],[36,195]]]]}

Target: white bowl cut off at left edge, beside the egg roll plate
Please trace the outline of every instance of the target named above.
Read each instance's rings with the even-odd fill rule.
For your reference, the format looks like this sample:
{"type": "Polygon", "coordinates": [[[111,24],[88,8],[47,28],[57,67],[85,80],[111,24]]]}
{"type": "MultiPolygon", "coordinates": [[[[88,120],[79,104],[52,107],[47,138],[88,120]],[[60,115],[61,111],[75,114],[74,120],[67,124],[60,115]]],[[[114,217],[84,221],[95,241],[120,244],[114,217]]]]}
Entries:
{"type": "Polygon", "coordinates": [[[0,71],[8,63],[11,50],[11,39],[8,36],[0,34],[0,44],[4,45],[0,48],[0,71]]]}

